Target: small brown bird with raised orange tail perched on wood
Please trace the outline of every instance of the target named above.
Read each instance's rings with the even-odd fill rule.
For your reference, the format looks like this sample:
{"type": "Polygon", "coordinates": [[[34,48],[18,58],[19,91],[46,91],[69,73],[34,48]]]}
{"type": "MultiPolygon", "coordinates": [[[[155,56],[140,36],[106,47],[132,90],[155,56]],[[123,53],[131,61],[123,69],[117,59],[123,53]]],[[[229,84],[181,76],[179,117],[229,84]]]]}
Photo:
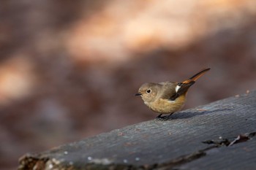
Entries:
{"type": "Polygon", "coordinates": [[[140,86],[135,96],[141,96],[144,103],[154,112],[160,113],[158,119],[168,120],[170,115],[178,112],[184,107],[187,90],[199,77],[205,74],[210,68],[203,69],[189,80],[183,82],[147,82],[140,86]],[[162,114],[170,114],[162,116],[162,114]]]}

